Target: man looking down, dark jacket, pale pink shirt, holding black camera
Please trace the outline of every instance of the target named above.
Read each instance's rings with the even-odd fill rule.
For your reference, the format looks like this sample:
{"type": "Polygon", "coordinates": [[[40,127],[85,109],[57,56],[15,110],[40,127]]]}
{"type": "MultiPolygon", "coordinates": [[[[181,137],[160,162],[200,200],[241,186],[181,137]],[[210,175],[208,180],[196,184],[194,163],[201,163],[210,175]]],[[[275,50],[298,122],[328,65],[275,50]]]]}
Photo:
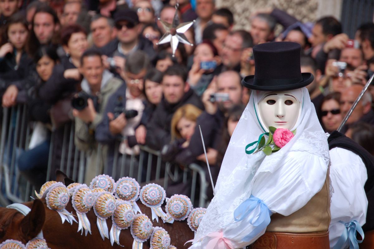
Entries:
{"type": "MultiPolygon", "coordinates": [[[[123,87],[116,91],[109,99],[105,107],[105,116],[96,129],[96,140],[109,145],[108,148],[108,173],[112,175],[113,167],[117,167],[119,176],[119,165],[131,164],[130,160],[114,161],[116,153],[120,155],[139,155],[140,148],[135,136],[135,129],[139,126],[144,111],[144,76],[147,73],[150,60],[143,51],[135,51],[126,59],[124,71],[121,72],[126,82],[123,87]],[[120,142],[116,147],[116,142],[120,142]],[[117,166],[114,165],[117,163],[117,166]]],[[[137,167],[137,163],[134,164],[137,167]]],[[[128,176],[129,167],[125,167],[124,174],[128,176]]],[[[133,172],[137,172],[134,170],[133,172]]],[[[115,177],[115,176],[113,176],[115,177]]]]}

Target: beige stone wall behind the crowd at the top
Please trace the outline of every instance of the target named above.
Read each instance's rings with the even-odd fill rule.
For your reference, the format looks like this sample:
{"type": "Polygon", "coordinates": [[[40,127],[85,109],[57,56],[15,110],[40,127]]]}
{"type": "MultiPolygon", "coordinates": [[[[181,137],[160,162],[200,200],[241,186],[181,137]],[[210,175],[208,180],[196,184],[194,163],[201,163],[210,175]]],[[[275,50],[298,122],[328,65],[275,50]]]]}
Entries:
{"type": "Polygon", "coordinates": [[[269,7],[285,10],[303,22],[314,22],[323,15],[340,19],[342,0],[216,0],[217,8],[226,7],[234,13],[235,29],[250,29],[253,13],[269,7]]]}

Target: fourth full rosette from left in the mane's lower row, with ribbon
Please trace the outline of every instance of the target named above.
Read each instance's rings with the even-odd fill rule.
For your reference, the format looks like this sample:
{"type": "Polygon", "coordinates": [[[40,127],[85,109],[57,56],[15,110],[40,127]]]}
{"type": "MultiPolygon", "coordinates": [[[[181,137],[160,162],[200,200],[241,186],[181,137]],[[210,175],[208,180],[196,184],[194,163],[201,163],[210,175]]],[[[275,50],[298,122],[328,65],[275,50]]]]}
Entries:
{"type": "Polygon", "coordinates": [[[110,229],[110,243],[114,241],[119,244],[119,234],[122,229],[127,229],[134,221],[135,213],[129,201],[116,200],[116,210],[112,215],[112,228],[110,229]]]}

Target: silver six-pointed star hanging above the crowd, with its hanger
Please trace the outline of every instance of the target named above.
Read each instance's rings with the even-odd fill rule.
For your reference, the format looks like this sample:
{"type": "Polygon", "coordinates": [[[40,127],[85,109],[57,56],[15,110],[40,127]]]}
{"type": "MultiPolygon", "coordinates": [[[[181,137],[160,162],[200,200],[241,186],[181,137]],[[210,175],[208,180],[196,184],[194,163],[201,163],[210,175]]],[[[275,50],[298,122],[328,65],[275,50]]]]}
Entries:
{"type": "Polygon", "coordinates": [[[175,56],[175,51],[177,50],[178,43],[184,43],[193,46],[190,42],[188,42],[187,37],[184,35],[184,33],[190,28],[195,20],[191,22],[183,22],[180,23],[179,15],[178,15],[178,7],[179,4],[175,4],[175,14],[173,18],[173,23],[170,24],[168,22],[165,22],[158,18],[158,20],[161,22],[162,26],[165,28],[166,32],[161,37],[159,42],[156,43],[156,45],[164,44],[170,42],[170,46],[173,50],[173,57],[175,56]]]}

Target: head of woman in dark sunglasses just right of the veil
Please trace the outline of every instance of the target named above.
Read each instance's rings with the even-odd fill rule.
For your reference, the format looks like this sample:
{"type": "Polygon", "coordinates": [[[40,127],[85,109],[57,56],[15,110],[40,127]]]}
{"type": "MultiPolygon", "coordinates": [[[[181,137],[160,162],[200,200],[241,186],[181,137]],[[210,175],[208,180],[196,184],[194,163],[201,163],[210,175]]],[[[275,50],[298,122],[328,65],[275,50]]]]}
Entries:
{"type": "Polygon", "coordinates": [[[324,130],[328,133],[336,130],[343,116],[340,113],[340,92],[332,92],[324,97],[321,104],[321,120],[324,130]]]}

